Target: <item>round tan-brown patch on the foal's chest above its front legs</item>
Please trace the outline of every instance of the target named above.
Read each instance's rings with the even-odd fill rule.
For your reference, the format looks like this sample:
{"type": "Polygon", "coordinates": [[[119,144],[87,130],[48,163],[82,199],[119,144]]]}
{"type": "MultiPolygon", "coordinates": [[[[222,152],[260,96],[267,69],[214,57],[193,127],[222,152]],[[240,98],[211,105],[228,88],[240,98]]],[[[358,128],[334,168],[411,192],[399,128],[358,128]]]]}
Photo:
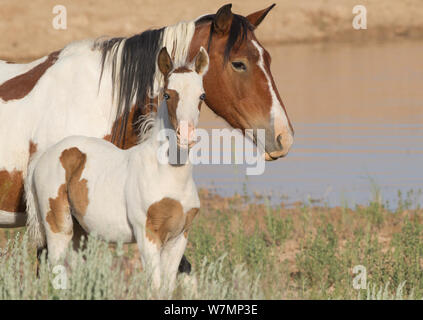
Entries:
{"type": "Polygon", "coordinates": [[[146,236],[159,248],[184,228],[184,211],[179,201],[163,198],[147,211],[146,236]]]}

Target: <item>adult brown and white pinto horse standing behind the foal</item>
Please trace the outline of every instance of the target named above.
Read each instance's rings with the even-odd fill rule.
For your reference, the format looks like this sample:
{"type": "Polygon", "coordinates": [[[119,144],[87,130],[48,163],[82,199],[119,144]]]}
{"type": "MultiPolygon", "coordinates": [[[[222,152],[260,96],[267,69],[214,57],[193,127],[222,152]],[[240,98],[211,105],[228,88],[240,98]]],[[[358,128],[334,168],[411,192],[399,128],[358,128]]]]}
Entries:
{"type": "Polygon", "coordinates": [[[247,17],[216,14],[129,38],[85,40],[29,64],[0,61],[0,226],[24,226],[23,181],[30,158],[71,135],[137,142],[138,120],[158,105],[167,47],[176,67],[201,46],[210,56],[206,104],[234,128],[266,130],[266,159],[285,156],[293,129],[254,29],[274,5],[247,17]]]}

